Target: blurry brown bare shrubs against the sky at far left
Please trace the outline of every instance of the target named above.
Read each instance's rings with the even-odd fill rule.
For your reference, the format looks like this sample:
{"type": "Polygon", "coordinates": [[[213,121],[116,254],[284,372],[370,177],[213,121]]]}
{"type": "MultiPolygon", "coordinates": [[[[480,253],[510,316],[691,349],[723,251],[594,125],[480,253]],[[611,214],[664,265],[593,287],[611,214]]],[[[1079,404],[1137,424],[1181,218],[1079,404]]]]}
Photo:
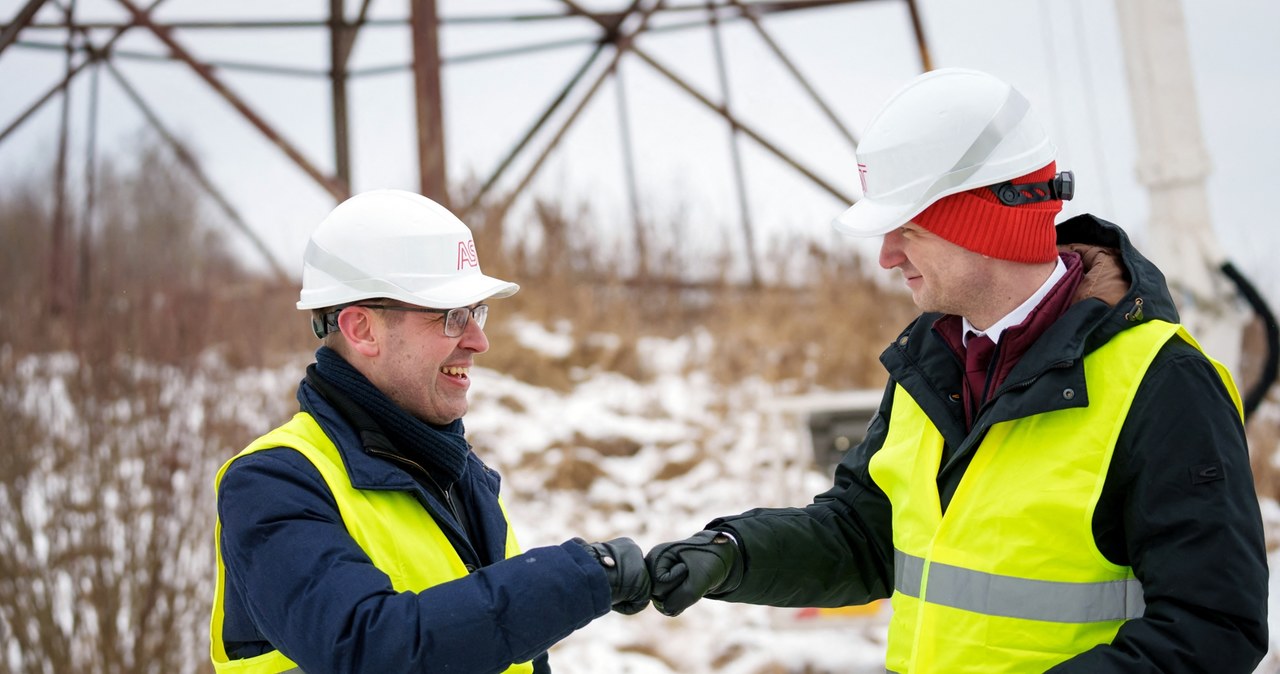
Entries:
{"type": "Polygon", "coordinates": [[[315,348],[306,318],[292,311],[297,285],[243,270],[165,153],[148,146],[132,166],[100,173],[93,226],[79,226],[74,242],[84,255],[67,270],[76,301],[60,313],[50,311],[46,188],[32,180],[0,193],[0,281],[12,290],[0,297],[0,317],[28,327],[6,334],[6,344],[19,353],[70,349],[91,362],[128,353],[174,364],[215,349],[237,366],[315,348]]]}

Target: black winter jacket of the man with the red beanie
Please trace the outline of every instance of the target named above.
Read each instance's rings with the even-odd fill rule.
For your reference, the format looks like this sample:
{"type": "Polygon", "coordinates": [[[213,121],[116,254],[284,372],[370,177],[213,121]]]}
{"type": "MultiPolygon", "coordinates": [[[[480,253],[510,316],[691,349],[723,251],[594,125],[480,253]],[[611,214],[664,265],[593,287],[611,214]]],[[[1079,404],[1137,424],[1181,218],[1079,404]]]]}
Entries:
{"type": "MultiPolygon", "coordinates": [[[[947,445],[938,473],[943,509],[974,448],[996,422],[1064,407],[1066,388],[1087,391],[1082,357],[1142,318],[1178,322],[1164,275],[1117,226],[1093,216],[1057,228],[1059,244],[1119,251],[1130,285],[1116,304],[1074,303],[1018,362],[965,432],[961,366],[918,317],[881,362],[890,381],[867,439],[836,469],[835,485],[805,508],[754,509],[708,527],[731,531],[744,553],[741,583],[714,599],[776,606],[841,606],[893,588],[891,508],[868,473],[888,426],[895,385],[910,391],[947,445]],[[1140,298],[1140,303],[1138,302],[1140,298]],[[1128,315],[1128,317],[1126,317],[1128,315]]],[[[1088,269],[1085,269],[1088,274],[1088,269]]],[[[1267,651],[1267,559],[1244,430],[1212,364],[1174,339],[1148,368],[1125,419],[1093,533],[1115,564],[1142,581],[1147,610],[1112,643],[1052,671],[1252,673],[1267,651]],[[1198,477],[1204,468],[1216,480],[1198,477]],[[1194,468],[1194,471],[1193,471],[1194,468]]]]}

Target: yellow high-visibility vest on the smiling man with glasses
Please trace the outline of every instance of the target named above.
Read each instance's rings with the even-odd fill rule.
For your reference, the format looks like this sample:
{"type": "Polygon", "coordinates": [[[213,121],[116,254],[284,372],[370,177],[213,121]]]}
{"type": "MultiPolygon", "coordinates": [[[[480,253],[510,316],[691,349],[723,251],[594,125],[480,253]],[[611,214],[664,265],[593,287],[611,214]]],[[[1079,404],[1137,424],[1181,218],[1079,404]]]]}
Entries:
{"type": "MultiPolygon", "coordinates": [[[[320,428],[315,418],[306,412],[294,414],[289,422],[259,437],[223,464],[221,469],[218,471],[218,477],[214,478],[215,494],[223,474],[236,459],[280,446],[297,450],[320,471],[334,500],[338,501],[338,510],[347,526],[347,532],[369,555],[374,565],[387,573],[397,592],[420,592],[467,574],[462,558],[458,556],[440,526],[413,495],[403,491],[362,491],[351,486],[351,478],[347,476],[338,448],[320,428]]],[[[503,509],[503,517],[506,518],[506,509],[503,509]]],[[[219,673],[236,674],[301,671],[280,651],[242,660],[228,659],[227,647],[223,643],[223,597],[227,587],[227,569],[223,565],[221,531],[223,524],[219,521],[214,532],[218,581],[214,590],[214,615],[209,624],[214,669],[219,673]]],[[[516,544],[509,521],[507,523],[506,554],[508,558],[520,554],[520,546],[516,544]]],[[[531,662],[520,662],[507,669],[509,673],[532,673],[532,670],[531,662]]]]}

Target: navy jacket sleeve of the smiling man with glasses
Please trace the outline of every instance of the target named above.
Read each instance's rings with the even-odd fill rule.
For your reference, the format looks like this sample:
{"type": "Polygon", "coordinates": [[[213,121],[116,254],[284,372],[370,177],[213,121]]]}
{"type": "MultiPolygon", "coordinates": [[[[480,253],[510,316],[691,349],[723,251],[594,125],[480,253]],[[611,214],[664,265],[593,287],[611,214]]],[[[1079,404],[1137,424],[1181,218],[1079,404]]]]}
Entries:
{"type": "Polygon", "coordinates": [[[500,671],[609,611],[603,569],[572,542],[396,592],[347,535],[319,472],[289,449],[232,464],[218,510],[228,593],[314,674],[500,671]]]}

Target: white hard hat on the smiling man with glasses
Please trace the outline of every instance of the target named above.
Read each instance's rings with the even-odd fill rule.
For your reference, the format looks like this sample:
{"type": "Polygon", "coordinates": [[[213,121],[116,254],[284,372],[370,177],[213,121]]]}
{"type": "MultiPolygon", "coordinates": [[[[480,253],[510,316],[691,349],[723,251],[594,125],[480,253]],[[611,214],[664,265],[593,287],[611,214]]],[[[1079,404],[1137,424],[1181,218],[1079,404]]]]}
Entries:
{"type": "Polygon", "coordinates": [[[311,234],[298,308],[370,298],[454,308],[516,290],[480,272],[471,230],[448,208],[412,192],[375,189],[339,203],[311,234]]]}

